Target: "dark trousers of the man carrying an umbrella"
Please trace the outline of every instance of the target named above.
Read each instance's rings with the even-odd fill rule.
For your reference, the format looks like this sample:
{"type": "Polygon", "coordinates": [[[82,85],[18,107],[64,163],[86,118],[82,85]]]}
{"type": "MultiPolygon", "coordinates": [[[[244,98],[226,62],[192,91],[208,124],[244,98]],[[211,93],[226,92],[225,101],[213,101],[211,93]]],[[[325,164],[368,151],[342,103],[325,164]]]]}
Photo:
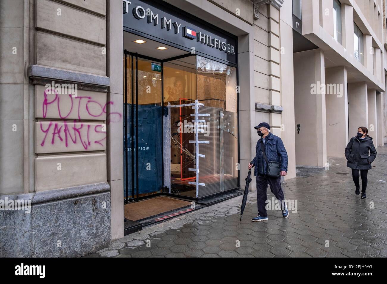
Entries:
{"type": "Polygon", "coordinates": [[[267,185],[270,186],[271,192],[281,204],[281,209],[284,210],[284,192],[281,187],[281,177],[268,177],[267,175],[257,175],[257,203],[258,213],[262,217],[267,217],[266,200],[267,200],[267,185]]]}

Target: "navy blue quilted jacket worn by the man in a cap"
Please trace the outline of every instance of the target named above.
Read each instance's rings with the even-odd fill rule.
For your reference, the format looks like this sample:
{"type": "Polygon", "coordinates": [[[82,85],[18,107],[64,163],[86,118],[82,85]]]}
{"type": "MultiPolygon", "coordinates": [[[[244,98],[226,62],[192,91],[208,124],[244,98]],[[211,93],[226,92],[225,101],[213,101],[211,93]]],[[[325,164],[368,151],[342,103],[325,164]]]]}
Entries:
{"type": "MultiPolygon", "coordinates": [[[[254,175],[266,174],[266,161],[262,155],[261,139],[258,140],[255,146],[255,158],[250,162],[254,168],[254,175]]],[[[286,153],[284,143],[281,138],[272,133],[266,136],[265,153],[268,161],[276,161],[281,163],[281,171],[288,172],[288,153],[286,153]]]]}

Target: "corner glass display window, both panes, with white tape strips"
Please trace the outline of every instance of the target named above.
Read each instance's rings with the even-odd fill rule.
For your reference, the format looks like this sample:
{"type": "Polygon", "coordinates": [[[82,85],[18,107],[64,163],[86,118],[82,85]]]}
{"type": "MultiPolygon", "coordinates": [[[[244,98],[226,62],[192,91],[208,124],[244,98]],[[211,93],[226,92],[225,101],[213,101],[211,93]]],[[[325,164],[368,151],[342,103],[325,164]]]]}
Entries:
{"type": "Polygon", "coordinates": [[[199,198],[238,187],[238,113],[236,68],[201,56],[164,63],[164,106],[199,100],[200,121],[191,106],[164,108],[164,185],[172,194],[195,197],[195,168],[199,168],[199,198]],[[199,165],[195,164],[196,124],[199,165]],[[199,128],[198,128],[199,129],[199,128]],[[165,170],[167,169],[167,172],[165,170]],[[168,173],[170,173],[168,175],[168,173]]]}

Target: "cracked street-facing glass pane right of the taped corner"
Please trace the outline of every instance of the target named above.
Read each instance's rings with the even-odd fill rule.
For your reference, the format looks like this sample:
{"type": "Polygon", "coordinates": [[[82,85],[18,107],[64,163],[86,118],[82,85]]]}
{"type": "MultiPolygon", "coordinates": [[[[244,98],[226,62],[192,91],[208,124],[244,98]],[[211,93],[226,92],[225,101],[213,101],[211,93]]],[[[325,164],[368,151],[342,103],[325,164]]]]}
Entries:
{"type": "Polygon", "coordinates": [[[206,156],[199,161],[199,180],[202,196],[238,187],[238,114],[236,96],[236,68],[197,56],[197,98],[204,104],[200,113],[208,126],[207,134],[199,134],[199,153],[206,156]],[[204,181],[203,181],[204,180],[204,181]]]}

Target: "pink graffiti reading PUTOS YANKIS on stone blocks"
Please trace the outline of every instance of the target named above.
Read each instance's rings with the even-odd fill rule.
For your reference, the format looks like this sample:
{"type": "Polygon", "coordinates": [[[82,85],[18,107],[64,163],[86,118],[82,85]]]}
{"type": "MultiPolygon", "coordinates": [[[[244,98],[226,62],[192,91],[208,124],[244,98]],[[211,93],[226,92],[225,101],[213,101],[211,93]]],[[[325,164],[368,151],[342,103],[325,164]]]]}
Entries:
{"type": "Polygon", "coordinates": [[[90,95],[72,97],[44,91],[40,105],[36,106],[37,110],[40,108],[38,117],[52,120],[36,122],[36,153],[106,149],[106,127],[119,122],[122,114],[108,113],[108,106],[114,103],[106,102],[106,94],[85,93],[90,95]]]}

